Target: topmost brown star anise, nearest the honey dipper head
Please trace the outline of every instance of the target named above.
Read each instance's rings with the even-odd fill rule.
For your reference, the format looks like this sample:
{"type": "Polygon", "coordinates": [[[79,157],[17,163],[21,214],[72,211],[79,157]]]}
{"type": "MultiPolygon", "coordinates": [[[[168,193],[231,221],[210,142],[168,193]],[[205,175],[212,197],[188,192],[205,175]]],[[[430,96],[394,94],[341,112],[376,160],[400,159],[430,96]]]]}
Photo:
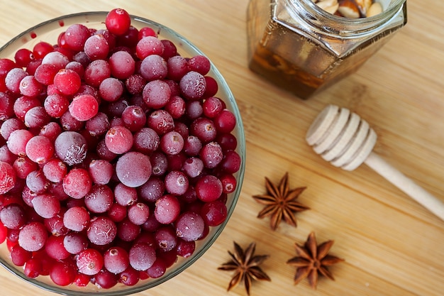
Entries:
{"type": "Polygon", "coordinates": [[[264,209],[257,214],[257,218],[262,219],[265,216],[271,216],[270,226],[273,230],[277,229],[282,217],[287,224],[296,227],[294,212],[310,209],[309,207],[304,206],[304,204],[296,202],[299,194],[301,194],[306,187],[289,190],[288,172],[285,173],[277,186],[265,177],[265,187],[267,189],[267,194],[253,196],[257,202],[265,204],[264,209]]]}

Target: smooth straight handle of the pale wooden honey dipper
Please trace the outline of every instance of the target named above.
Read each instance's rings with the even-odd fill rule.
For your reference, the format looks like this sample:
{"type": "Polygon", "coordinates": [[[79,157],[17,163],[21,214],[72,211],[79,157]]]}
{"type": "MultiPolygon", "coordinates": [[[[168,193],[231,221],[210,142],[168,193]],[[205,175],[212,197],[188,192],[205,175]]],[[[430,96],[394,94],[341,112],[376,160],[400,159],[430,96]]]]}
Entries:
{"type": "Polygon", "coordinates": [[[409,177],[406,177],[402,172],[393,168],[392,165],[389,165],[379,155],[370,153],[365,160],[365,164],[389,182],[392,182],[393,185],[416,200],[416,202],[422,204],[430,212],[444,220],[444,203],[424,190],[423,187],[417,185],[409,177]]]}

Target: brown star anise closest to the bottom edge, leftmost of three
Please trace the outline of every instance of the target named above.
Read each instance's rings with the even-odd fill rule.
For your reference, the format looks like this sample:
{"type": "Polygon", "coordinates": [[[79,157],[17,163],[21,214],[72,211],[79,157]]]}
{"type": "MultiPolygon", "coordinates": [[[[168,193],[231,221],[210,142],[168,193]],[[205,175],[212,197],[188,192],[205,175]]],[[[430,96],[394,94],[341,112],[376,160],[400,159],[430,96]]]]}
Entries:
{"type": "Polygon", "coordinates": [[[234,270],[235,273],[228,285],[228,291],[233,287],[237,286],[240,281],[243,281],[245,285],[245,290],[247,294],[250,295],[250,287],[252,285],[252,280],[268,280],[270,277],[264,273],[264,271],[259,267],[259,265],[267,259],[268,255],[256,255],[255,256],[256,243],[250,243],[248,248],[243,251],[238,243],[234,242],[234,253],[228,251],[230,254],[231,261],[224,263],[218,270],[234,270]]]}

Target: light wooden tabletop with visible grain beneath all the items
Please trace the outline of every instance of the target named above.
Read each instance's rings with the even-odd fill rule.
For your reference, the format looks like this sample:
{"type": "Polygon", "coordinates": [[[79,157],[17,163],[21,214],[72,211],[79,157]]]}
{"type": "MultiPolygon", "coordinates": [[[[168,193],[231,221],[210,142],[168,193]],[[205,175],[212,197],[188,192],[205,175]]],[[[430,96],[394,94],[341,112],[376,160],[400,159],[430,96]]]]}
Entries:
{"type": "MultiPolygon", "coordinates": [[[[0,44],[49,18],[81,11],[129,13],[163,23],[208,55],[226,78],[243,117],[247,143],[245,180],[226,229],[191,268],[139,295],[246,295],[242,285],[226,292],[233,241],[257,243],[269,254],[262,265],[271,282],[255,282],[252,295],[444,295],[444,222],[365,165],[346,172],[322,160],[305,140],[311,121],[327,104],[355,111],[378,135],[374,152],[444,200],[444,1],[409,0],[409,21],[355,75],[307,101],[272,86],[248,70],[248,0],[55,1],[0,0],[0,44]],[[428,5],[430,4],[430,6],[428,5]],[[257,219],[264,177],[306,186],[296,228],[257,219]],[[311,231],[333,239],[331,254],[345,258],[321,278],[317,290],[293,285],[286,264],[311,231]]],[[[0,294],[52,295],[0,270],[0,294]]]]}

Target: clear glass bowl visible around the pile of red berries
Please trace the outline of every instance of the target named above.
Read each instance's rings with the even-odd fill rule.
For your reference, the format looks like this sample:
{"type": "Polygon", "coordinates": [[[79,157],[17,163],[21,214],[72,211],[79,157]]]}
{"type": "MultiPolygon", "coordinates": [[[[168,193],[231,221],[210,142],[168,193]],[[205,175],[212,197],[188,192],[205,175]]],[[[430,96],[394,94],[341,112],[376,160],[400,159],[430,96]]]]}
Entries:
{"type": "MultiPolygon", "coordinates": [[[[67,16],[60,16],[58,18],[53,18],[49,21],[40,23],[33,28],[21,33],[20,35],[13,38],[3,47],[0,48],[0,58],[9,58],[13,60],[14,54],[18,49],[28,48],[32,50],[33,46],[40,42],[46,41],[48,43],[56,44],[57,38],[66,28],[74,23],[82,23],[89,28],[105,28],[104,20],[106,18],[107,12],[87,12],[87,13],[75,13],[67,16]]],[[[154,29],[158,33],[158,38],[171,40],[177,47],[177,52],[183,57],[192,57],[194,55],[204,55],[195,45],[189,42],[186,38],[178,33],[174,32],[172,29],[166,26],[150,21],[145,18],[138,16],[131,16],[131,25],[135,28],[143,28],[148,26],[154,29]]],[[[61,295],[107,295],[107,296],[117,296],[117,295],[129,295],[135,292],[140,292],[147,290],[151,287],[155,287],[167,280],[170,280],[175,275],[186,270],[190,265],[192,265],[199,257],[201,257],[218,238],[226,226],[228,219],[230,218],[233,210],[235,209],[235,204],[238,200],[240,189],[242,187],[243,175],[245,170],[245,137],[243,131],[243,124],[240,119],[240,113],[238,106],[235,102],[233,94],[229,89],[226,81],[223,79],[221,73],[216,69],[216,67],[211,63],[211,70],[208,74],[213,77],[218,82],[218,93],[215,97],[219,97],[226,102],[227,109],[231,110],[235,114],[237,124],[233,130],[233,135],[237,138],[238,145],[236,152],[240,155],[242,163],[240,165],[240,170],[235,173],[235,178],[237,180],[237,187],[234,192],[228,194],[228,199],[226,201],[228,216],[226,220],[218,225],[210,227],[209,234],[201,240],[196,241],[196,249],[192,256],[189,258],[177,257],[177,262],[174,263],[170,268],[167,268],[166,272],[160,278],[148,278],[145,280],[140,280],[136,285],[126,286],[118,283],[114,287],[109,289],[98,287],[92,283],[89,283],[86,287],[77,287],[74,284],[67,286],[58,286],[52,283],[49,276],[39,275],[37,278],[28,278],[23,274],[23,267],[18,267],[13,265],[11,258],[9,256],[9,250],[6,246],[6,242],[0,244],[0,264],[4,266],[11,273],[17,275],[18,277],[25,280],[27,283],[36,285],[44,290],[51,292],[57,292],[61,295]]]]}

